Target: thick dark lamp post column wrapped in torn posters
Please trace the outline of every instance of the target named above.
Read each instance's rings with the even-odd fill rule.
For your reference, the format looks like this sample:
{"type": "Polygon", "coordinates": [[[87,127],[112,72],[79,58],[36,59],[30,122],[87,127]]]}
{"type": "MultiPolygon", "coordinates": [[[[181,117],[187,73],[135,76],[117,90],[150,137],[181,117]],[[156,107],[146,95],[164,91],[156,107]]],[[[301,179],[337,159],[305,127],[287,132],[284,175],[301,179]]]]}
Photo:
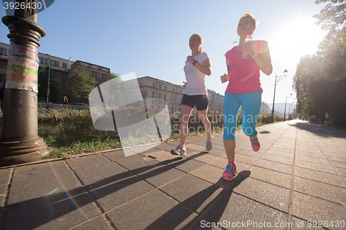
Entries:
{"type": "MultiPolygon", "coordinates": [[[[37,6],[37,0],[30,3],[37,6]]],[[[19,8],[1,20],[10,30],[0,135],[0,166],[8,166],[41,160],[50,151],[37,130],[37,48],[46,31],[37,25],[37,8],[19,8]]]]}

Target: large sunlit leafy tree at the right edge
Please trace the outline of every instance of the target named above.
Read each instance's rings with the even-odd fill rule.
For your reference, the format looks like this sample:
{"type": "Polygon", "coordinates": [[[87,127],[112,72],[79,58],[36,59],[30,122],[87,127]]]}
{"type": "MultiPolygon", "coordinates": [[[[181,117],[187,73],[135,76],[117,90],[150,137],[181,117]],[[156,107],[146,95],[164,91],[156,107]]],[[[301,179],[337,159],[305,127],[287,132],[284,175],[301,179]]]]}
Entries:
{"type": "Polygon", "coordinates": [[[316,4],[325,2],[329,3],[313,17],[322,29],[329,30],[328,35],[316,55],[300,59],[293,77],[297,113],[315,113],[323,119],[328,112],[334,124],[346,127],[346,3],[317,0],[316,4]]]}

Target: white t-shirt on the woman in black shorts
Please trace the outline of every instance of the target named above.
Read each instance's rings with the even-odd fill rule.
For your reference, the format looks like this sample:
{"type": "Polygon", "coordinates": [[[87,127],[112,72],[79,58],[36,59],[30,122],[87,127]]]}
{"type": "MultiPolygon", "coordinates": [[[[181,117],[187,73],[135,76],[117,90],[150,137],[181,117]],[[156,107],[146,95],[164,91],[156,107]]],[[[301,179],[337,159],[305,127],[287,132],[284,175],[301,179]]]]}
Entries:
{"type": "MultiPolygon", "coordinates": [[[[206,52],[201,52],[194,57],[199,63],[208,59],[206,52]]],[[[185,61],[184,72],[186,77],[185,95],[208,95],[206,88],[206,75],[202,73],[196,66],[190,61],[185,61]]]]}

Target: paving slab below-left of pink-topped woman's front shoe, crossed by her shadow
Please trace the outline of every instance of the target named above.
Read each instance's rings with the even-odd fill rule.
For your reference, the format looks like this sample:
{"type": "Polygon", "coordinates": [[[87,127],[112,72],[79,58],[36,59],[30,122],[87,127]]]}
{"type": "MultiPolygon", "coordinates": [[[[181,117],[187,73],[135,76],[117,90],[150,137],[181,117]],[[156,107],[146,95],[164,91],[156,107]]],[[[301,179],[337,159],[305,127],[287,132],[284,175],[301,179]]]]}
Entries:
{"type": "Polygon", "coordinates": [[[174,180],[160,190],[197,213],[201,213],[223,191],[219,186],[192,175],[174,180]]]}

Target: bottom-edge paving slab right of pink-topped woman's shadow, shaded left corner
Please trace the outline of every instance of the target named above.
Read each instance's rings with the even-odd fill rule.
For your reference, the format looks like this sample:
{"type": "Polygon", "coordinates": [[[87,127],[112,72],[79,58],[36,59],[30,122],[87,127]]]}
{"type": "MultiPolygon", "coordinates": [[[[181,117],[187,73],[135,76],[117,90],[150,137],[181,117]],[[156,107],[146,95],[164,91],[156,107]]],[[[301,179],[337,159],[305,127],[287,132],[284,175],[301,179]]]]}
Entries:
{"type": "MultiPolygon", "coordinates": [[[[286,223],[288,215],[277,209],[273,209],[264,204],[245,198],[233,191],[226,191],[224,195],[215,202],[215,204],[203,214],[203,218],[210,222],[230,222],[230,227],[235,223],[236,229],[264,229],[264,222],[271,226],[275,223],[286,223]],[[259,227],[260,224],[260,227],[259,227]]],[[[275,229],[286,229],[286,227],[277,227],[275,229]]]]}

